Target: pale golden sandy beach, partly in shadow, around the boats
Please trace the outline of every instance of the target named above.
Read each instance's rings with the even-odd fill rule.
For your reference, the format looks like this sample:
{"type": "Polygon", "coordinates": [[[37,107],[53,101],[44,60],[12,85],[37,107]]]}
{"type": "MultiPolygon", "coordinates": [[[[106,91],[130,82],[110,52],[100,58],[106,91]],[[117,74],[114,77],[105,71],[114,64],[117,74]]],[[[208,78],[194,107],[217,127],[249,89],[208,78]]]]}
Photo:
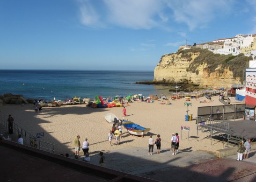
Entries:
{"type": "MultiPolygon", "coordinates": [[[[212,97],[211,103],[200,103],[205,98],[199,100],[191,99],[189,102],[189,114],[193,118],[197,116],[198,106],[222,105],[219,102],[219,96],[212,97]]],[[[42,140],[55,144],[55,153],[57,154],[74,154],[74,139],[80,135],[80,142],[88,138],[89,153],[95,154],[99,151],[107,153],[118,148],[145,147],[145,154],[148,150],[148,138],[152,134],[161,135],[161,149],[170,148],[171,133],[179,133],[180,149],[190,148],[190,150],[209,151],[214,153],[223,147],[220,140],[205,138],[209,133],[198,132],[195,120],[185,121],[187,106],[185,99],[171,100],[171,105],[161,105],[161,99],[154,103],[134,102],[126,107],[127,117],[140,126],[151,128],[145,137],[130,135],[123,128],[123,136],[120,145],[110,146],[107,139],[111,126],[105,121],[106,113],[113,113],[119,119],[122,119],[122,107],[97,108],[93,109],[85,105],[63,105],[60,107],[44,107],[43,111],[36,113],[33,105],[3,105],[1,115],[7,118],[11,114],[15,123],[27,130],[29,133],[36,135],[44,132],[42,140]],[[188,131],[183,131],[181,137],[181,126],[190,126],[188,131]]],[[[231,104],[240,104],[240,102],[231,100],[231,104]]],[[[115,140],[112,140],[115,143],[115,140]]],[[[154,148],[156,151],[156,148],[154,148]]],[[[82,150],[80,154],[83,154],[82,150]]]]}

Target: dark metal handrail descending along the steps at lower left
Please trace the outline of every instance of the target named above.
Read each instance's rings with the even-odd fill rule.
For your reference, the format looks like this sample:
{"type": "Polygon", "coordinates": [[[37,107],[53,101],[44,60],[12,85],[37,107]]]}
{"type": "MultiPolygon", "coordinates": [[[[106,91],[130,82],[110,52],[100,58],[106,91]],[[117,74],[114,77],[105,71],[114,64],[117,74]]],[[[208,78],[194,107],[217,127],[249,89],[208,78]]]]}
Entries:
{"type": "MultiPolygon", "coordinates": [[[[0,124],[3,125],[5,128],[8,128],[8,121],[3,116],[0,116],[0,124]]],[[[54,153],[54,144],[37,139],[37,137],[30,134],[22,127],[18,126],[15,122],[13,122],[13,130],[14,130],[15,134],[21,134],[22,138],[24,136],[23,143],[29,145],[30,147],[37,147],[37,143],[39,143],[38,147],[40,150],[41,150],[41,148],[44,148],[44,149],[50,150],[52,153],[54,153]],[[32,145],[33,140],[34,140],[34,144],[32,145]]]]}

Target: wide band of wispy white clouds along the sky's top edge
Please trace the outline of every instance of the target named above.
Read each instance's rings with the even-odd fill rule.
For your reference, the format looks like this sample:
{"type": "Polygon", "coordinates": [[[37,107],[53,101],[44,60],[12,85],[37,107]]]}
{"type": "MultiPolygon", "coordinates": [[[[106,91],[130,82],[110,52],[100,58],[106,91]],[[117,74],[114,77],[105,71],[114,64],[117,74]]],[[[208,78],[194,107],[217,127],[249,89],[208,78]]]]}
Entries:
{"type": "MultiPolygon", "coordinates": [[[[78,0],[80,19],[89,27],[119,26],[131,29],[161,28],[172,31],[176,23],[190,30],[232,12],[234,0],[78,0]]],[[[233,11],[234,13],[234,11],[233,11]]],[[[223,17],[221,17],[223,18],[223,17]]],[[[184,36],[184,34],[181,36],[184,36]]]]}

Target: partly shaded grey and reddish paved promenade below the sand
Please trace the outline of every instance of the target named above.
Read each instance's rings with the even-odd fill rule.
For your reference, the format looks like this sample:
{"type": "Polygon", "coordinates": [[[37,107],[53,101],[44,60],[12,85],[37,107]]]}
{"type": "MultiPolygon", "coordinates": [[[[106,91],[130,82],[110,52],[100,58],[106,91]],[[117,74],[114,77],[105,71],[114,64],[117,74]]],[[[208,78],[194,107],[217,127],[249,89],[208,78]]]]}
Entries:
{"type": "MultiPolygon", "coordinates": [[[[236,161],[236,155],[217,158],[215,154],[185,148],[172,155],[170,149],[161,154],[148,155],[147,147],[126,148],[106,152],[106,168],[144,176],[162,182],[255,182],[256,151],[249,160],[236,161]]],[[[98,164],[99,155],[91,155],[91,162],[98,164]]]]}

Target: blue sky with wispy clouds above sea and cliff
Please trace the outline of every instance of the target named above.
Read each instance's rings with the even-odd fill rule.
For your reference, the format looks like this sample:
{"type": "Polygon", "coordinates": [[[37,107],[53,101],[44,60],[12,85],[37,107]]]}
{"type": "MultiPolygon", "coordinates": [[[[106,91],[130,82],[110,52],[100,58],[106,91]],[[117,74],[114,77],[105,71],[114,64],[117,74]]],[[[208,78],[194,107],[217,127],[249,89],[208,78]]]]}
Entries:
{"type": "Polygon", "coordinates": [[[256,34],[256,0],[0,0],[0,69],[154,70],[237,34],[256,34]]]}

